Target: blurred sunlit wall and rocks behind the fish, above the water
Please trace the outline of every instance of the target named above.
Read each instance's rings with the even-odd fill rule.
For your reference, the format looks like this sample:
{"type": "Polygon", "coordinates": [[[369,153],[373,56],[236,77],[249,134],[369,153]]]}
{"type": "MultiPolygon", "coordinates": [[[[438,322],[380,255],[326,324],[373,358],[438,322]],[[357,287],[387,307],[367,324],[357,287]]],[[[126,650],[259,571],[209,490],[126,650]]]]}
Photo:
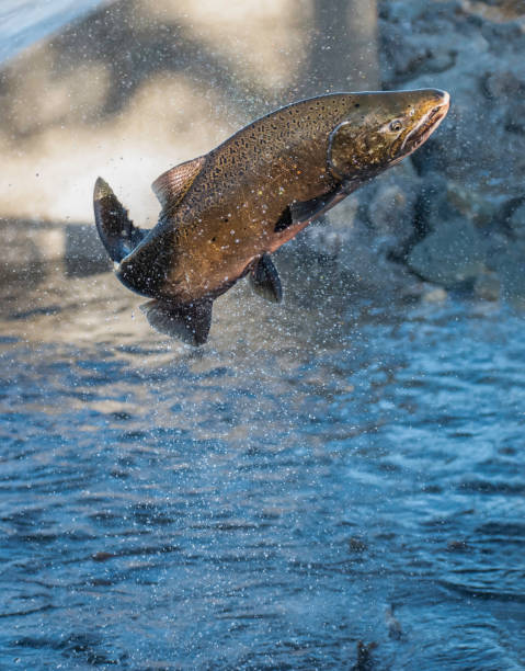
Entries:
{"type": "Polygon", "coordinates": [[[440,133],[301,242],[362,286],[393,281],[413,294],[419,276],[483,299],[523,298],[523,1],[2,8],[4,263],[101,259],[91,226],[99,174],[148,227],[152,180],[258,115],[329,91],[438,87],[453,101],[440,133]]]}

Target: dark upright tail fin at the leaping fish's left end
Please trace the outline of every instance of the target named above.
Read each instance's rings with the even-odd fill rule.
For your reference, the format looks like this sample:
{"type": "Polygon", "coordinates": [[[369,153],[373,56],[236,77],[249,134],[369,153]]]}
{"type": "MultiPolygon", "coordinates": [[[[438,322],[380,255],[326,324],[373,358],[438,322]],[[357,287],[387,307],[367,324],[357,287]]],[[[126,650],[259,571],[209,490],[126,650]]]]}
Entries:
{"type": "Polygon", "coordinates": [[[99,178],[94,185],[93,207],[96,229],[112,261],[119,263],[148,235],[133,225],[112,187],[99,178]]]}

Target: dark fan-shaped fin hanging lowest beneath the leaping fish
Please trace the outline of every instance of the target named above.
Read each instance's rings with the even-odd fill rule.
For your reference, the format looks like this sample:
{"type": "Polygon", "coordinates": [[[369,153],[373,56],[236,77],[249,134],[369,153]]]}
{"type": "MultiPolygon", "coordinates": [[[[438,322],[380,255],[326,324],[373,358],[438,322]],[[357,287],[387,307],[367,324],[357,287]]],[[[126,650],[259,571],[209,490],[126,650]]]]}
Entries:
{"type": "Polygon", "coordinates": [[[206,342],[212,326],[212,299],[180,305],[169,300],[150,300],[140,306],[150,326],[159,333],[180,338],[187,344],[206,342]]]}

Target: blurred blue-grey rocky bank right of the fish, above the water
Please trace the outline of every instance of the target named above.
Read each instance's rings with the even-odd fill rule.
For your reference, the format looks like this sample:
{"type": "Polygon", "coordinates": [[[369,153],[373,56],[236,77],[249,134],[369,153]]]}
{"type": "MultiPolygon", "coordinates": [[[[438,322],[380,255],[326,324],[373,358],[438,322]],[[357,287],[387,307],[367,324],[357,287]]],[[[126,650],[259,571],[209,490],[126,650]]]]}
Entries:
{"type": "Polygon", "coordinates": [[[378,289],[445,295],[412,275],[523,299],[525,3],[385,1],[379,35],[384,88],[446,89],[450,112],[411,162],[310,229],[311,244],[378,289]]]}

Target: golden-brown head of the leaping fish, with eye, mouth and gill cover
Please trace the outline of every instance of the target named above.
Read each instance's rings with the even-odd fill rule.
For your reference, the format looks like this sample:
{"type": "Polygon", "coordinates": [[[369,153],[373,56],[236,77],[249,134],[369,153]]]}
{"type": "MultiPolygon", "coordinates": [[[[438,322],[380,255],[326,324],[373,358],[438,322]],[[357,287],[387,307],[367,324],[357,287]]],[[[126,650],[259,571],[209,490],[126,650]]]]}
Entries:
{"type": "Polygon", "coordinates": [[[415,151],[448,112],[437,89],[355,93],[346,117],[332,130],[328,164],[335,179],[362,182],[415,151]]]}

